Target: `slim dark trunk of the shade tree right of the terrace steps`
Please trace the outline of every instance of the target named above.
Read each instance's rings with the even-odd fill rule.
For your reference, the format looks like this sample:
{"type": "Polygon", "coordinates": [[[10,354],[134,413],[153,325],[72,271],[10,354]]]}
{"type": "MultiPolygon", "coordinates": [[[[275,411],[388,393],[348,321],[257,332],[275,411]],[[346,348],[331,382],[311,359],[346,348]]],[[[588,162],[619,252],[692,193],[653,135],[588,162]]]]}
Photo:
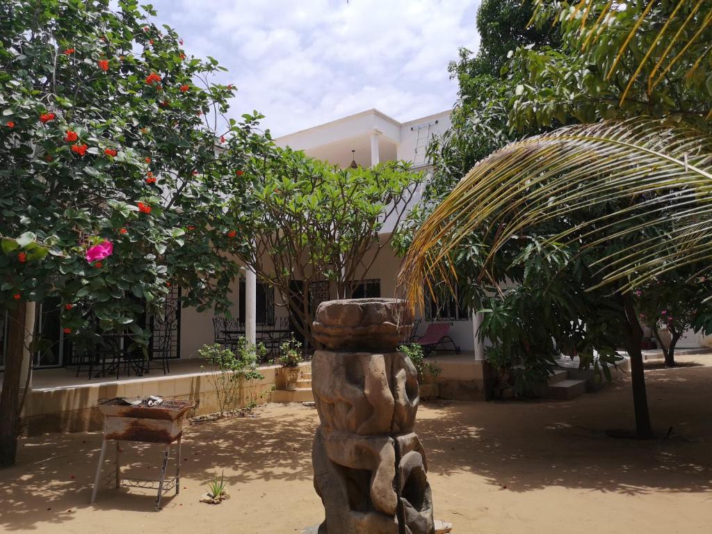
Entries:
{"type": "Polygon", "coordinates": [[[625,349],[630,357],[631,381],[633,384],[633,406],[635,410],[635,429],[639,439],[653,437],[650,426],[648,397],[645,392],[645,373],[643,370],[643,355],[640,343],[643,340],[643,329],[638,322],[633,299],[629,294],[622,295],[627,332],[624,340],[625,349]]]}

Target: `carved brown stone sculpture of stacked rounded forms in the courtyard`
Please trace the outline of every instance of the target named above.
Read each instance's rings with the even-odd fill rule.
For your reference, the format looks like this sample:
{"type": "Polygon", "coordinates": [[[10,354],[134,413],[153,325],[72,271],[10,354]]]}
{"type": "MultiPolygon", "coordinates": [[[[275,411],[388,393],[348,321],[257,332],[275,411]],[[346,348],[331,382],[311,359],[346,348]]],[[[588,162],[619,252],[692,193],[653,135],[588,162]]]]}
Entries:
{"type": "Polygon", "coordinates": [[[395,347],[412,318],[402,301],[332,300],[317,309],[312,362],[321,424],[314,487],[319,534],[434,534],[425,451],[414,433],[417,372],[395,347]]]}

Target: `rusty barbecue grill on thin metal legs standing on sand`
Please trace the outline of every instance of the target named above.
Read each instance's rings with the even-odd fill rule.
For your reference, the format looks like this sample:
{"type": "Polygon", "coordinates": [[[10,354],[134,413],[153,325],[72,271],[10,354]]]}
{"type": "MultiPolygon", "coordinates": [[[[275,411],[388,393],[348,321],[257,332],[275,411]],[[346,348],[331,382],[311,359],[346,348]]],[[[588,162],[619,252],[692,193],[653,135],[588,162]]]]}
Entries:
{"type": "Polygon", "coordinates": [[[117,397],[99,404],[104,414],[104,439],[99,453],[99,465],[94,478],[94,490],[91,502],[96,499],[101,481],[101,469],[104,464],[107,442],[116,441],[116,465],[113,475],[115,487],[148,488],[157,490],[155,511],[159,511],[161,497],[172,488],[176,495],[180,493],[180,441],[183,432],[183,419],[189,409],[195,407],[193,401],[163,400],[160,397],[117,397]],[[165,444],[161,476],[159,479],[122,478],[121,477],[121,442],[140,441],[142,443],[165,444]],[[176,473],[166,479],[166,468],[173,443],[177,445],[176,473]]]}

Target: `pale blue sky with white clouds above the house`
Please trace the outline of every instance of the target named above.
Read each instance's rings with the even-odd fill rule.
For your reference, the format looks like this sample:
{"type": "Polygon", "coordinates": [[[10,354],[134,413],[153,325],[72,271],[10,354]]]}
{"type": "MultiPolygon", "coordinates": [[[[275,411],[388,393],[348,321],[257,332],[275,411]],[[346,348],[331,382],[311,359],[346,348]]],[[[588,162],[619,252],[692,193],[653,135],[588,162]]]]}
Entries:
{"type": "Polygon", "coordinates": [[[231,115],[274,137],[377,108],[406,121],[452,108],[447,66],[476,51],[479,0],[153,0],[190,55],[234,83],[231,115]]]}

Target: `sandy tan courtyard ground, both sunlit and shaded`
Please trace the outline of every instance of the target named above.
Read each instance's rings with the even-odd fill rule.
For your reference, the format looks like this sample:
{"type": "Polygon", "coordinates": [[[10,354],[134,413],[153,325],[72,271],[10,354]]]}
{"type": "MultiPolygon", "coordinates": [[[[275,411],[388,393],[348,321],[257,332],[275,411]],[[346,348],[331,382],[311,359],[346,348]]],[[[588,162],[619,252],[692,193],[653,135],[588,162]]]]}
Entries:
{"type": "MultiPolygon", "coordinates": [[[[419,412],[436,517],[454,534],[712,532],[712,354],[646,372],[654,426],[669,439],[607,437],[631,428],[627,379],[572,402],[442,402],[419,412]]],[[[257,417],[190,426],[179,496],[152,511],[148,491],[100,492],[100,434],[21,441],[0,471],[0,530],[38,533],[299,533],[323,518],[312,486],[316,412],[268,405],[257,417]],[[198,502],[224,469],[232,498],[198,502]]],[[[157,446],[124,446],[135,476],[155,476],[157,446]]],[[[109,456],[110,458],[112,456],[109,456]]],[[[110,463],[106,464],[106,471],[110,463]]]]}

